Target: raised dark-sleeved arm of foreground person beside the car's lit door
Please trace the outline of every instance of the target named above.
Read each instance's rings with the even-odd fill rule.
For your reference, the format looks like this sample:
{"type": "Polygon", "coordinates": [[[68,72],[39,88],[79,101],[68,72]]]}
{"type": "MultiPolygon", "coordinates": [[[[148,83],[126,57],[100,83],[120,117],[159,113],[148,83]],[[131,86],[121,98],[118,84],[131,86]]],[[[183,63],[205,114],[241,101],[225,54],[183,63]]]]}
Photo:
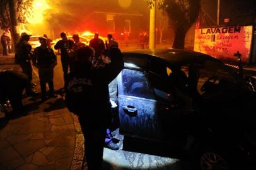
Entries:
{"type": "Polygon", "coordinates": [[[119,48],[111,48],[110,55],[111,55],[110,64],[107,64],[105,65],[105,67],[103,67],[103,72],[105,74],[104,76],[108,84],[113,79],[115,79],[115,77],[117,77],[119,72],[122,71],[122,69],[124,68],[124,60],[119,48]]]}

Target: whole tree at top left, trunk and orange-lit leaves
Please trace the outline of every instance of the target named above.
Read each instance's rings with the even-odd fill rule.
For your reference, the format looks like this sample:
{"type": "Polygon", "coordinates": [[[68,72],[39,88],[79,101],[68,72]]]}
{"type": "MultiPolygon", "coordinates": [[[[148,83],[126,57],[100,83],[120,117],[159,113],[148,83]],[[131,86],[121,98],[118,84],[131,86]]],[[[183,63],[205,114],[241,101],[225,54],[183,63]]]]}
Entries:
{"type": "Polygon", "coordinates": [[[26,23],[32,3],[33,0],[0,0],[0,26],[2,30],[11,31],[14,43],[18,41],[17,26],[26,23]]]}

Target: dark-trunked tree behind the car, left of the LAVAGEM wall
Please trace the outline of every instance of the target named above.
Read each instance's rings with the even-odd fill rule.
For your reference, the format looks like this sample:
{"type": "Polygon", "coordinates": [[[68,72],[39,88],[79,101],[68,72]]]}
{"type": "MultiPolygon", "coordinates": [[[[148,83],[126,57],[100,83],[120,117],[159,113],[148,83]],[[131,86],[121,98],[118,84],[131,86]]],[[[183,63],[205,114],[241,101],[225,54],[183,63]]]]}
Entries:
{"type": "Polygon", "coordinates": [[[185,35],[190,26],[197,20],[201,8],[201,0],[146,0],[149,8],[153,1],[168,16],[169,25],[175,33],[173,48],[184,48],[185,35]]]}

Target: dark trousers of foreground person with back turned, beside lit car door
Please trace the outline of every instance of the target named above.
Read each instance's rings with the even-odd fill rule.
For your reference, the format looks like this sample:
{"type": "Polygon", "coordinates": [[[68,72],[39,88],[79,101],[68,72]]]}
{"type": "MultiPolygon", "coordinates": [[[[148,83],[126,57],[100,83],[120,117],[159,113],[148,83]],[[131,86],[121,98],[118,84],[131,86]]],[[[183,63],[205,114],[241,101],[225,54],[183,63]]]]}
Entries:
{"type": "Polygon", "coordinates": [[[84,134],[84,152],[88,170],[102,169],[106,128],[86,126],[83,118],[79,122],[84,134]]]}

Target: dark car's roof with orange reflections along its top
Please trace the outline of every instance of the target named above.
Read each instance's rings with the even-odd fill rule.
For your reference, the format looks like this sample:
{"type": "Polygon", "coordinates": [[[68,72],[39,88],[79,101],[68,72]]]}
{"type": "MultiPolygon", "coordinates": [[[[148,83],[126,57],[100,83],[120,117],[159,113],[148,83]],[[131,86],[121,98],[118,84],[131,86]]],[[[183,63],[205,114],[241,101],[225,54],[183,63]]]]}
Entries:
{"type": "Polygon", "coordinates": [[[139,49],[139,50],[131,50],[122,52],[122,54],[132,56],[134,54],[139,55],[139,57],[158,57],[163,60],[166,60],[170,64],[190,64],[193,61],[197,62],[205,62],[206,60],[216,60],[221,62],[210,55],[202,54],[200,52],[194,52],[190,50],[180,50],[173,48],[165,48],[165,49],[157,49],[157,50],[149,50],[149,49],[139,49]]]}

